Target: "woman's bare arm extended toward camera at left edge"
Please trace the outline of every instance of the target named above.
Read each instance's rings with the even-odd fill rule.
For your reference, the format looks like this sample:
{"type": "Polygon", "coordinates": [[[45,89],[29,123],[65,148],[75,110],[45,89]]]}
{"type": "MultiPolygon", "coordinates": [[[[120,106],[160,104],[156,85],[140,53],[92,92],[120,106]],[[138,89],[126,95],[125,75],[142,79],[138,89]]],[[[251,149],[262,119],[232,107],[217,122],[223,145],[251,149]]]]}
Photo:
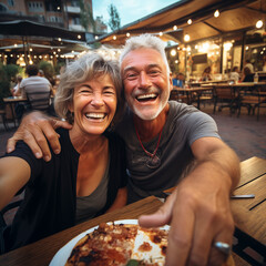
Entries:
{"type": "Polygon", "coordinates": [[[0,158],[0,209],[27,184],[30,174],[30,165],[24,160],[12,156],[0,158]]]}

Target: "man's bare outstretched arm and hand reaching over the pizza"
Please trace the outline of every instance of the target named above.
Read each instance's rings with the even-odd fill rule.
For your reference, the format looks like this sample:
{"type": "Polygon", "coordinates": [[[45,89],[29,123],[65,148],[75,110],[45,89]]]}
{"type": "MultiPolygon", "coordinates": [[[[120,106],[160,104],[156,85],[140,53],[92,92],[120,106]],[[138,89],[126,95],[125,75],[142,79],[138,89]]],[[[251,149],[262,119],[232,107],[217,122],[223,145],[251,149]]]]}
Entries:
{"type": "Polygon", "coordinates": [[[213,243],[232,244],[229,195],[239,181],[239,161],[215,137],[195,141],[192,151],[197,160],[195,168],[162,208],[139,222],[145,227],[171,224],[166,265],[222,265],[225,257],[213,243]]]}

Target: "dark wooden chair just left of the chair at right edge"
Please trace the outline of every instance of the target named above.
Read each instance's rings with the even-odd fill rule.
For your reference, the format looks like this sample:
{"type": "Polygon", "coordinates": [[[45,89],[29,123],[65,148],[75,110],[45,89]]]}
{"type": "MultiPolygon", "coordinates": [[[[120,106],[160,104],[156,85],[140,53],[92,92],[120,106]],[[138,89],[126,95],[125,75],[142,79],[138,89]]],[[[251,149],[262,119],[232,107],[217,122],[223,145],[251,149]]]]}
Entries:
{"type": "Polygon", "coordinates": [[[223,108],[229,108],[231,115],[232,115],[234,104],[237,108],[237,95],[235,95],[234,88],[215,85],[213,90],[213,95],[214,95],[213,113],[215,113],[217,104],[222,103],[222,105],[218,106],[218,110],[222,111],[223,108]]]}

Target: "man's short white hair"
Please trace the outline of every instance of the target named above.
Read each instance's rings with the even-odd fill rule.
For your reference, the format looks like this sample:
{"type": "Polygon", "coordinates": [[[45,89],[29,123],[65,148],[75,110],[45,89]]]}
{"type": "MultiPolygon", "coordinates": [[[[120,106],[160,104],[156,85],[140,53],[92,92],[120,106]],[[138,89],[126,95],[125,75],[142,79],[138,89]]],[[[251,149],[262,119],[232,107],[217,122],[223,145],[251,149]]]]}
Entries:
{"type": "Polygon", "coordinates": [[[127,53],[140,48],[154,49],[160,52],[166,65],[167,73],[170,73],[168,61],[165,53],[165,43],[160,38],[149,33],[131,37],[126,40],[124,49],[120,55],[120,65],[127,53]]]}

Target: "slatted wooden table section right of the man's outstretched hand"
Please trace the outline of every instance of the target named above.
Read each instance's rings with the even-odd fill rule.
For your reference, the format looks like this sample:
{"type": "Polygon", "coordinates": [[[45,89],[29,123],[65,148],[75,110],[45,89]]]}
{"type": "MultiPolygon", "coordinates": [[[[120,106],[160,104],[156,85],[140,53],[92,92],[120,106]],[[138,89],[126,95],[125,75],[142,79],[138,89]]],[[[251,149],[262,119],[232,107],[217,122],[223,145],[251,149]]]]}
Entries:
{"type": "Polygon", "coordinates": [[[255,197],[231,201],[235,236],[241,244],[236,245],[235,252],[250,265],[263,265],[256,260],[264,256],[266,263],[266,160],[252,157],[241,166],[242,178],[234,194],[254,194],[255,197]]]}

